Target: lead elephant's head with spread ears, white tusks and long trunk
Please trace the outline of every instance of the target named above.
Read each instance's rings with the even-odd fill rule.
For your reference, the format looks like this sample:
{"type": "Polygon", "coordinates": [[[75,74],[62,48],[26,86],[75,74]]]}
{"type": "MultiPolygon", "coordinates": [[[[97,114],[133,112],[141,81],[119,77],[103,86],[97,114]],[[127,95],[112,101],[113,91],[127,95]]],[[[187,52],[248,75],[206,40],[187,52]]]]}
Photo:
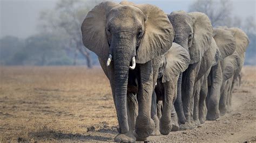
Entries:
{"type": "Polygon", "coordinates": [[[81,30],[84,46],[105,60],[107,66],[113,66],[120,133],[127,133],[129,67],[134,69],[136,63],[146,63],[169,51],[173,27],[156,6],[102,2],[87,13],[81,30]]]}

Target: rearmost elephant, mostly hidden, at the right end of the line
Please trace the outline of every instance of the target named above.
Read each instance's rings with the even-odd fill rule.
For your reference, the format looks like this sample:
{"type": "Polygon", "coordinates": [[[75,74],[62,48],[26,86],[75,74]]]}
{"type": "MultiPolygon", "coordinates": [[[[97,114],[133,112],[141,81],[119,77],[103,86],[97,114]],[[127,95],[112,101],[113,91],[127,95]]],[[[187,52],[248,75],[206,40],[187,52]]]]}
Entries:
{"type": "Polygon", "coordinates": [[[245,51],[250,42],[246,33],[239,28],[220,27],[231,31],[235,38],[235,51],[221,62],[223,82],[220,88],[219,110],[224,116],[227,111],[231,111],[232,91],[235,79],[241,73],[245,61],[245,51]]]}

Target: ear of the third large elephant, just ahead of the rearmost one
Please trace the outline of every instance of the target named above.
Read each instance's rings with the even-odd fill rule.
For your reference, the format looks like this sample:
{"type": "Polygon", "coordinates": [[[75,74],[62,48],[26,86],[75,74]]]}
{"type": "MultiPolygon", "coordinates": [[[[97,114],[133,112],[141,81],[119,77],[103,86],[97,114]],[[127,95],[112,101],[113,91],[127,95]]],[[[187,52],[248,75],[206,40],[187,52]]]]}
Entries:
{"type": "Polygon", "coordinates": [[[236,47],[233,32],[223,28],[213,28],[213,38],[219,48],[220,60],[234,53],[236,47]]]}

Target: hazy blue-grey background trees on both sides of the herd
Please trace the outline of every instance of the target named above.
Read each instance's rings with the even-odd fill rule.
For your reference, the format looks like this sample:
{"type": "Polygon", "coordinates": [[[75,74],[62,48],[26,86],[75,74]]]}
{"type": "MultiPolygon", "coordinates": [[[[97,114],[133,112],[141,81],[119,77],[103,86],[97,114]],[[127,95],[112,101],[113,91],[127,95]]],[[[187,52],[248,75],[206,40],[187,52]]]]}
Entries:
{"type": "MultiPolygon", "coordinates": [[[[54,9],[39,15],[38,34],[26,39],[0,39],[0,65],[99,65],[97,56],[82,44],[80,25],[87,12],[103,0],[59,0],[54,9]]],[[[232,14],[230,0],[196,0],[188,11],[204,12],[212,25],[239,27],[244,30],[250,45],[246,65],[256,65],[256,23],[253,16],[241,19],[232,14]]]]}

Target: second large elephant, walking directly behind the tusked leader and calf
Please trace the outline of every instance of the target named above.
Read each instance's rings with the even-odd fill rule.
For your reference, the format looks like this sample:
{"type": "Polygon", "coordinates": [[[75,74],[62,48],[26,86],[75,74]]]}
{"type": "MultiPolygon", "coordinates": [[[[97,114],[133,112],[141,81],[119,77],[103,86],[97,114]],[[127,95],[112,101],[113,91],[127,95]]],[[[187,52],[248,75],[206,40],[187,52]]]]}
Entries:
{"type": "Polygon", "coordinates": [[[168,18],[175,32],[174,42],[187,48],[190,54],[190,65],[180,74],[182,82],[177,85],[181,87],[177,89],[178,104],[174,103],[179,118],[179,129],[187,130],[194,128],[194,97],[199,97],[198,92],[204,76],[210,73],[210,68],[215,62],[217,46],[212,37],[211,21],[204,13],[174,11],[168,18]]]}

